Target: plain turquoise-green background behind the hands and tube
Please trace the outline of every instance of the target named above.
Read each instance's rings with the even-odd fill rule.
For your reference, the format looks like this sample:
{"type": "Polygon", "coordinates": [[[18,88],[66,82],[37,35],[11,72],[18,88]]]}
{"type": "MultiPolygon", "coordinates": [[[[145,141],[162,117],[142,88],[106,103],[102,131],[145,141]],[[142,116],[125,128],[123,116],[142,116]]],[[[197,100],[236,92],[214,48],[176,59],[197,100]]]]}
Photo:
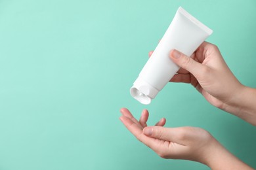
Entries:
{"type": "Polygon", "coordinates": [[[256,168],[256,128],[169,83],[150,105],[129,88],[179,6],[213,29],[234,75],[256,87],[256,1],[0,0],[0,169],[209,169],[164,160],[119,121],[207,129],[256,168]]]}

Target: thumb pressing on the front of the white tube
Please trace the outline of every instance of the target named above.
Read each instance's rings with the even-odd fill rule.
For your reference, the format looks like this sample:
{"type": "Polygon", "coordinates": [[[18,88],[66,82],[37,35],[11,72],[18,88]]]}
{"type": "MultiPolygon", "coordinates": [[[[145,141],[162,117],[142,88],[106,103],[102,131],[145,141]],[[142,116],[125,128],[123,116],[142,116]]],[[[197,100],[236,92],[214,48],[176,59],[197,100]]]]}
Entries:
{"type": "Polygon", "coordinates": [[[196,78],[202,74],[202,69],[205,67],[205,65],[202,65],[202,63],[198,63],[178,50],[171,50],[169,57],[173,60],[173,62],[179,65],[179,67],[186,69],[196,78]]]}

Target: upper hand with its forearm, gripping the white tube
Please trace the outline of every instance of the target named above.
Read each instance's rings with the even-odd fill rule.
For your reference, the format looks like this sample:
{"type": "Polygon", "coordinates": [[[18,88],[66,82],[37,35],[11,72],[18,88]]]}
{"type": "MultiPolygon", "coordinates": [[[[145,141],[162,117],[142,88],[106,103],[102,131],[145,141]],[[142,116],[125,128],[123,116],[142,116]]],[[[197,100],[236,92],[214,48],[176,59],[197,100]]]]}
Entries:
{"type": "Polygon", "coordinates": [[[256,90],[238,81],[217,46],[203,42],[190,58],[177,50],[169,57],[181,67],[171,82],[192,84],[211,105],[256,125],[256,90]]]}

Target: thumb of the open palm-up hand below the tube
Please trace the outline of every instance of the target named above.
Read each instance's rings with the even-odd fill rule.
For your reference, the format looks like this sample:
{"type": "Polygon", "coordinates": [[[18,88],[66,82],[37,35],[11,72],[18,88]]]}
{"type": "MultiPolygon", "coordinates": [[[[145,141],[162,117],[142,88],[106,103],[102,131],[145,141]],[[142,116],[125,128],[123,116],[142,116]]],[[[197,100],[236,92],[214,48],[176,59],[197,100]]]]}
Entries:
{"type": "Polygon", "coordinates": [[[178,144],[184,144],[184,139],[186,139],[186,136],[188,135],[186,131],[179,127],[167,128],[161,126],[144,127],[143,133],[148,137],[161,139],[163,141],[171,141],[178,144]]]}

